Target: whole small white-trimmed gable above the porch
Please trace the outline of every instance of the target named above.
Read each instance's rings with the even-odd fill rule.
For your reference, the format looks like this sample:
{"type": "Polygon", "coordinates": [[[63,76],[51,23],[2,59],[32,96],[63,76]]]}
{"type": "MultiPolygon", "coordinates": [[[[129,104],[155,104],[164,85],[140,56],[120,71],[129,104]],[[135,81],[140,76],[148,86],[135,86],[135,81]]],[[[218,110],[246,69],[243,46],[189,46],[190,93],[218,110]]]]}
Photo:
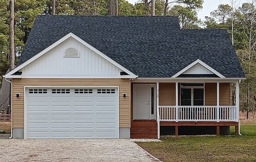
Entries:
{"type": "Polygon", "coordinates": [[[171,78],[225,78],[221,73],[200,59],[193,61],[171,78]]]}

